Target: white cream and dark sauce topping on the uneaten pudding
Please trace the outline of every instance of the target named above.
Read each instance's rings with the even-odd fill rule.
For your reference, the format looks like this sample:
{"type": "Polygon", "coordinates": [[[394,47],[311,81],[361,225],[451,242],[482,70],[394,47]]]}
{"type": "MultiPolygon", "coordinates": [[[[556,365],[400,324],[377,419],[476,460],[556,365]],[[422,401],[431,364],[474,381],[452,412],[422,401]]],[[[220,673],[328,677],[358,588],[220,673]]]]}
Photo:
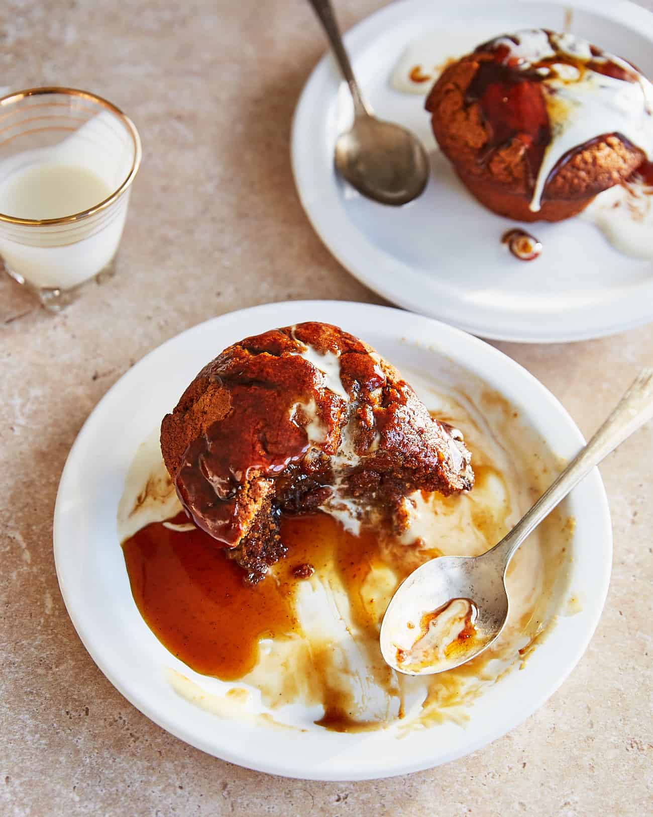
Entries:
{"type": "Polygon", "coordinates": [[[653,158],[653,87],[626,60],[571,34],[529,29],[483,43],[466,92],[490,132],[480,162],[522,141],[530,209],[566,159],[597,138],[618,136],[653,158]]]}

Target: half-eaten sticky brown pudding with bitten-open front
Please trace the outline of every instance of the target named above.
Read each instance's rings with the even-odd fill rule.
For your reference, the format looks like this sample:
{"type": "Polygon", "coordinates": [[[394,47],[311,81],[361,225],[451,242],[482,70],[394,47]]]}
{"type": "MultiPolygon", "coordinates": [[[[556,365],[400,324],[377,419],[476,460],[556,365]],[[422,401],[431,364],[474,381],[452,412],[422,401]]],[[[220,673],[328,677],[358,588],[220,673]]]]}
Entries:
{"type": "Polygon", "coordinates": [[[325,511],[402,534],[411,493],[473,486],[460,431],[433,419],[397,369],[330,324],[229,346],[163,418],[164,462],[185,511],[249,583],[286,555],[280,515],[325,511]]]}

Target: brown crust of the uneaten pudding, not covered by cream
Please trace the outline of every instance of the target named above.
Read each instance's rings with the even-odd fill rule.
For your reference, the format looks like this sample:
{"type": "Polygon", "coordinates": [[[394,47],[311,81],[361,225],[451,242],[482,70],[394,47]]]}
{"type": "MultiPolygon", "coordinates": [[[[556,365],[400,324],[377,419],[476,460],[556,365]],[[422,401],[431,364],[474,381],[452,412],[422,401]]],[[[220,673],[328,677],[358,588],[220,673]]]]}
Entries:
{"type": "Polygon", "coordinates": [[[541,84],[519,84],[509,105],[522,108],[515,119],[524,127],[519,131],[516,125],[516,132],[497,144],[480,101],[470,100],[477,96],[470,88],[473,91],[479,69],[495,60],[496,51],[483,47],[462,57],[442,73],[426,100],[438,145],[464,185],[487,208],[519,221],[561,221],[581,212],[595,195],[620,184],[642,163],[642,151],[623,137],[597,134],[557,167],[544,186],[540,211],[531,212],[536,168],[528,151],[548,127],[541,84]]]}

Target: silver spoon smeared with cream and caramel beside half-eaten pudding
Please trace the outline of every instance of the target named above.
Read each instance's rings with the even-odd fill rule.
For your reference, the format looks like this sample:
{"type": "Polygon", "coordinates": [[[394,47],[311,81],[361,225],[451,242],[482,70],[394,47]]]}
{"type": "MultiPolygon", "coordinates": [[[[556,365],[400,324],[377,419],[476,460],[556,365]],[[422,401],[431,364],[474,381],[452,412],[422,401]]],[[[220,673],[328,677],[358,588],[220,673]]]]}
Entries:
{"type": "Polygon", "coordinates": [[[486,650],[508,618],[505,574],[515,551],[589,471],[652,417],[653,368],[645,368],[589,443],[498,545],[473,558],[440,556],[406,578],[390,600],[381,624],[381,653],[390,667],[406,675],[434,675],[486,650]],[[455,629],[448,634],[446,618],[442,618],[447,609],[456,617],[455,629]],[[475,632],[468,629],[468,637],[455,639],[465,615],[468,627],[471,618],[475,632]],[[420,641],[424,633],[424,641],[420,641]],[[447,635],[454,637],[449,649],[447,635]]]}

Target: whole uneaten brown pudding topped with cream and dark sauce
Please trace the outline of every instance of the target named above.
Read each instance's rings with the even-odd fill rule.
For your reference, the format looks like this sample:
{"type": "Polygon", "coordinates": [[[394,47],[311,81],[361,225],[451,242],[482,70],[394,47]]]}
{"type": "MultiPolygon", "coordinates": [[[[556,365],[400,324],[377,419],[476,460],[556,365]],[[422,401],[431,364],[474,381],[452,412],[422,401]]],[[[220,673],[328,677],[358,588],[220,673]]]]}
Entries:
{"type": "Polygon", "coordinates": [[[653,86],[569,33],[527,29],[449,66],[426,109],[468,190],[519,221],[561,221],[653,158],[653,86]]]}

